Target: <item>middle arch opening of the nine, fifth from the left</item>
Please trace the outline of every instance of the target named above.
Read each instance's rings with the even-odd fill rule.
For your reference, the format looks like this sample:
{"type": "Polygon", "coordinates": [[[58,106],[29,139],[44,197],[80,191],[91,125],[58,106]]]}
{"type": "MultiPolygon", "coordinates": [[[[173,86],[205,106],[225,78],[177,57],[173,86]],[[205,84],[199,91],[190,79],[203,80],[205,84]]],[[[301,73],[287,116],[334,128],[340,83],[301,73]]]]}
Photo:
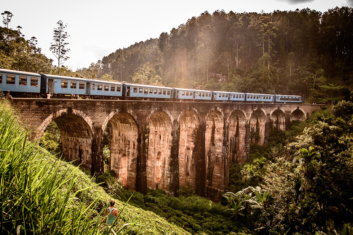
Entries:
{"type": "Polygon", "coordinates": [[[224,119],[222,114],[217,110],[212,111],[207,115],[205,124],[206,186],[212,191],[212,188],[224,187],[222,177],[225,164],[225,159],[222,157],[224,119]]]}

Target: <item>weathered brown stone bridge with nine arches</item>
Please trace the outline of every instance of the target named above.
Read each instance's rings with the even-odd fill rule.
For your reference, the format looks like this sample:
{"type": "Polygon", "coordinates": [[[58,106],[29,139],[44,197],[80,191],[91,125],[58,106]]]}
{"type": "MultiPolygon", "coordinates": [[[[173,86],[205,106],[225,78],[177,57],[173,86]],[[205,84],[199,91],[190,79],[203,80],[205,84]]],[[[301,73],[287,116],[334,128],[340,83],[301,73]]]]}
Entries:
{"type": "Polygon", "coordinates": [[[110,122],[110,169],[124,187],[178,196],[182,185],[213,200],[228,186],[229,163],[244,162],[251,141],[267,144],[271,128],[286,129],[321,107],[25,98],[12,104],[33,138],[55,121],[63,155],[91,174],[103,173],[103,132],[110,122]]]}

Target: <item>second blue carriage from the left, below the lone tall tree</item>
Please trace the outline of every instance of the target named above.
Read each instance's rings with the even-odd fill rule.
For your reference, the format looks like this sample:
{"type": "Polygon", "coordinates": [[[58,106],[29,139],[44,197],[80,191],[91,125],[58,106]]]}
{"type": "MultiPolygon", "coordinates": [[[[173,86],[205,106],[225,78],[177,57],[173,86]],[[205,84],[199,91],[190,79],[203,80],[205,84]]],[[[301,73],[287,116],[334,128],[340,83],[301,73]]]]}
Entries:
{"type": "Polygon", "coordinates": [[[74,78],[41,74],[47,80],[47,92],[55,94],[56,98],[67,98],[74,94],[92,98],[120,98],[122,83],[94,80],[88,78],[74,78]]]}

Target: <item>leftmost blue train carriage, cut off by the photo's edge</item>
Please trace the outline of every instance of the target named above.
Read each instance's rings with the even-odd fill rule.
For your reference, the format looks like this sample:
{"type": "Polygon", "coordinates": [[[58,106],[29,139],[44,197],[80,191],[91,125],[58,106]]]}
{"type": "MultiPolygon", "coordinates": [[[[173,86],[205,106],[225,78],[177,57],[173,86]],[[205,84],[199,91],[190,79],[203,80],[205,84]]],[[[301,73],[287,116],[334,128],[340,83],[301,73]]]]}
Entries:
{"type": "Polygon", "coordinates": [[[41,86],[38,73],[0,69],[0,90],[10,91],[13,97],[27,97],[45,94],[45,84],[41,86]]]}

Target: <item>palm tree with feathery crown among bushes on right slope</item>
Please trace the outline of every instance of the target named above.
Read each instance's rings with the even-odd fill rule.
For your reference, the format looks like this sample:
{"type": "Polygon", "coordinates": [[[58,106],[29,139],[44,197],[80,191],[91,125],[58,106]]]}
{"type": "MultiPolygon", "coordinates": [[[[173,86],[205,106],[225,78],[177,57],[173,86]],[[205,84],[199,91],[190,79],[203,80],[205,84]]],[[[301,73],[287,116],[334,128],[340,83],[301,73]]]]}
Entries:
{"type": "Polygon", "coordinates": [[[313,147],[309,149],[300,149],[300,154],[294,158],[294,161],[299,161],[298,168],[302,171],[305,179],[305,194],[308,183],[312,180],[313,176],[319,171],[321,162],[318,162],[321,155],[315,151],[313,147]]]}

